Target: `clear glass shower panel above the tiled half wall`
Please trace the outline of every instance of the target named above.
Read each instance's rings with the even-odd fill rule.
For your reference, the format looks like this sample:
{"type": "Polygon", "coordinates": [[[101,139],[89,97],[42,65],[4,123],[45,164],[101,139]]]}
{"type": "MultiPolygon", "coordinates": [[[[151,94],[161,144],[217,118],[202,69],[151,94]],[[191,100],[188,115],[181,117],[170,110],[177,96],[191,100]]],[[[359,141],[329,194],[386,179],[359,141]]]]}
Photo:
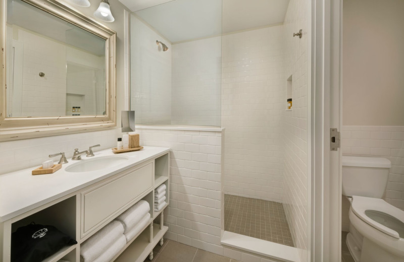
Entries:
{"type": "Polygon", "coordinates": [[[136,123],[220,126],[222,2],[176,0],[130,23],[136,123]]]}

